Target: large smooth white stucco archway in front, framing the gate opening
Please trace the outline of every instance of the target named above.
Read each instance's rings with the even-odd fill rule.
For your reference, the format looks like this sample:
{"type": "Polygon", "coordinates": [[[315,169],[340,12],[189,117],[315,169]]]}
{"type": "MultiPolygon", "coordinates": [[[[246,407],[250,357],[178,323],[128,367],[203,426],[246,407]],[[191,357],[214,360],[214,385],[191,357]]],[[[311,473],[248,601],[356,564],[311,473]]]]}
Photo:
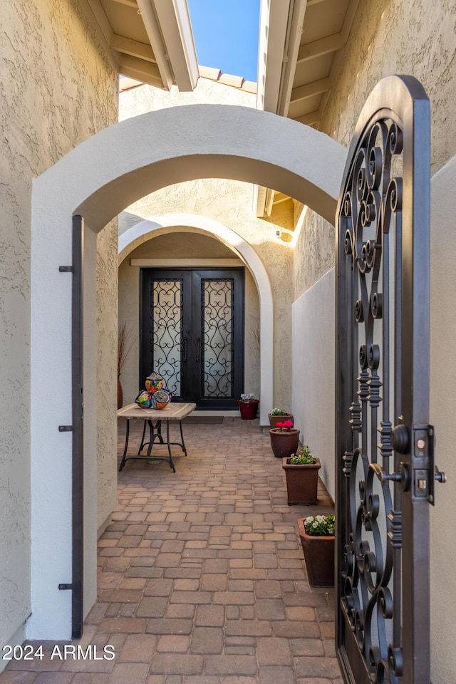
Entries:
{"type": "MultiPolygon", "coordinates": [[[[345,159],[344,147],[289,119],[229,105],[189,105],[110,126],[33,182],[28,638],[71,636],[71,592],[58,590],[71,582],[72,572],[71,433],[59,432],[58,426],[71,423],[71,275],[60,273],[59,266],[72,261],[72,215],[86,219],[93,255],[96,233],[135,199],[176,182],[222,177],[273,187],[333,222],[345,159]]],[[[88,259],[85,276],[89,293],[95,291],[93,261],[88,259]]],[[[94,415],[96,403],[86,393],[85,423],[92,440],[94,415]]],[[[85,586],[93,594],[96,472],[88,458],[86,466],[85,586]]]]}

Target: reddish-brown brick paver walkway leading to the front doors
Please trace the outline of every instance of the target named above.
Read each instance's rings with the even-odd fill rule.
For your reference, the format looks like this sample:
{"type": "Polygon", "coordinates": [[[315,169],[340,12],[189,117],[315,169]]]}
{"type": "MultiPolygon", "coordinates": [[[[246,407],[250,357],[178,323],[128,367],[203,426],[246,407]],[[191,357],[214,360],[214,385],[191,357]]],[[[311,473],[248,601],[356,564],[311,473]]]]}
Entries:
{"type": "MultiPolygon", "coordinates": [[[[139,440],[132,425],[132,454],[139,440]]],[[[51,659],[43,643],[43,660],[10,663],[0,684],[341,684],[333,591],[309,587],[296,526],[332,510],[326,490],[318,507],[287,505],[258,420],[185,425],[185,440],[176,473],[129,461],[119,474],[81,640],[100,659],[51,659]]]]}

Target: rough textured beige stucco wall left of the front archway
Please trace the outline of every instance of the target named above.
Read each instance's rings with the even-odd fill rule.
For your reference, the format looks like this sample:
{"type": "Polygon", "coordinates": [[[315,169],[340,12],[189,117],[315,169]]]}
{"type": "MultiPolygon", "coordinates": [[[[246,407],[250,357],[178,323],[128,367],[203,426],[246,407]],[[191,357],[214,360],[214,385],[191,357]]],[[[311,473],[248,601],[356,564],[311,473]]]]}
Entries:
{"type": "Polygon", "coordinates": [[[30,612],[31,181],[115,121],[118,83],[85,0],[4,0],[0,56],[1,647],[30,612]]]}

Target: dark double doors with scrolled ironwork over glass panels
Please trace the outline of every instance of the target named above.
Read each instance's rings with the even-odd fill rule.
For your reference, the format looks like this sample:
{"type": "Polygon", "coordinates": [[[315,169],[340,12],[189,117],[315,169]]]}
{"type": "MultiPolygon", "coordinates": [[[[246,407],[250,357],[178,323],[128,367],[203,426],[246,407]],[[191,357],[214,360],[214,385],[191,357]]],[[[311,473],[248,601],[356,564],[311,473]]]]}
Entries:
{"type": "Polygon", "coordinates": [[[173,401],[237,408],[244,385],[244,269],[141,269],[140,386],[160,373],[173,401]]]}

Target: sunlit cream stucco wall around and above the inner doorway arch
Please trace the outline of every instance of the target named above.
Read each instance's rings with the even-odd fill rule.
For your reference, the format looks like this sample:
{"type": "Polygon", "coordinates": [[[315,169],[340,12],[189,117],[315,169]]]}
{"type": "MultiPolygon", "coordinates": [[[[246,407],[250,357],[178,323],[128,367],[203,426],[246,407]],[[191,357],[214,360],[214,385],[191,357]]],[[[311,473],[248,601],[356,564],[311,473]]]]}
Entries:
{"type": "MultiPolygon", "coordinates": [[[[138,86],[121,93],[120,118],[165,106],[195,102],[254,107],[255,98],[250,93],[202,78],[193,93],[172,90],[167,97],[151,86],[138,86]]],[[[201,214],[217,220],[237,232],[257,252],[269,276],[274,296],[274,397],[269,408],[281,405],[288,409],[291,405],[291,368],[287,361],[291,353],[291,246],[276,238],[276,224],[256,217],[252,185],[232,180],[201,179],[158,190],[130,205],[120,215],[119,232],[123,233],[139,220],[168,212],[201,214]]],[[[247,339],[246,345],[250,347],[247,339]]],[[[252,378],[247,375],[246,381],[253,383],[252,388],[246,385],[246,391],[259,391],[257,379],[253,375],[252,378]]]]}

